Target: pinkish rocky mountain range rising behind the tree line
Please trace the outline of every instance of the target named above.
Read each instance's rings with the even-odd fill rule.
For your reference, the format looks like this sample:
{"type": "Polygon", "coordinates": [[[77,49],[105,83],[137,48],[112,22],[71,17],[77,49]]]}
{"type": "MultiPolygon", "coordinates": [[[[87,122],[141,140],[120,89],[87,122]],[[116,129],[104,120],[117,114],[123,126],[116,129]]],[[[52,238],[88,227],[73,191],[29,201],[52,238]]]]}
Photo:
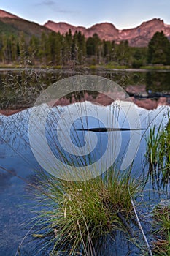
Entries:
{"type": "Polygon", "coordinates": [[[85,37],[92,37],[93,34],[98,34],[98,37],[105,40],[115,40],[119,43],[122,40],[128,40],[129,45],[136,47],[147,46],[150,39],[156,31],[163,33],[170,39],[170,25],[166,25],[160,18],[143,22],[134,29],[117,29],[112,23],[99,23],[86,29],[83,26],[72,26],[68,23],[47,21],[44,26],[37,23],[24,20],[16,15],[13,15],[4,10],[0,10],[0,31],[5,34],[18,34],[23,31],[27,36],[35,35],[39,37],[42,31],[50,33],[50,31],[60,32],[65,34],[71,29],[72,34],[75,31],[81,31],[85,37]]]}

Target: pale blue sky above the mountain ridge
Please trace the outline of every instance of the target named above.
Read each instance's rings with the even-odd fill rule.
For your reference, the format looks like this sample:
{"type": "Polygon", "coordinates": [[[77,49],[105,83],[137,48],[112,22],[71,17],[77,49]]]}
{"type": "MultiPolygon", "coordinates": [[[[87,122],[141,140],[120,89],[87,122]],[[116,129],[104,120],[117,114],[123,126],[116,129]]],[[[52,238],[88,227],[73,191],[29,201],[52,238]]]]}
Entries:
{"type": "Polygon", "coordinates": [[[152,18],[170,24],[169,0],[1,0],[0,9],[42,25],[53,20],[89,27],[107,21],[126,29],[152,18]]]}

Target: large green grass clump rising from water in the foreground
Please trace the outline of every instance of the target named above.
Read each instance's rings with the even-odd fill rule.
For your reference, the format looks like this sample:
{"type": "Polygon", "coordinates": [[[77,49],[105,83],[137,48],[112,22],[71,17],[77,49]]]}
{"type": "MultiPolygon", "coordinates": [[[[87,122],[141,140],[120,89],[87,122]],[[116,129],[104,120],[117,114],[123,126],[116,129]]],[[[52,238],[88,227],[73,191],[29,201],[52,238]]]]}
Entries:
{"type": "Polygon", "coordinates": [[[110,171],[83,182],[50,177],[43,187],[45,209],[33,236],[46,239],[52,255],[99,255],[98,244],[113,237],[114,230],[131,235],[131,197],[139,195],[141,181],[130,172],[110,171]]]}

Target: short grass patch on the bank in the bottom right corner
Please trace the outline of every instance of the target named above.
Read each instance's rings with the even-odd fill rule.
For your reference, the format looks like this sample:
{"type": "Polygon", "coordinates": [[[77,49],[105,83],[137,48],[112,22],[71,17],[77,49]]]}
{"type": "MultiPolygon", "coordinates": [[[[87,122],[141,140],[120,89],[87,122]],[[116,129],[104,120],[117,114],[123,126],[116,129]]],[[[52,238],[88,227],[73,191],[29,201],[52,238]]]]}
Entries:
{"type": "Polygon", "coordinates": [[[170,205],[157,206],[153,211],[155,233],[159,238],[154,242],[154,255],[170,255],[170,205]]]}

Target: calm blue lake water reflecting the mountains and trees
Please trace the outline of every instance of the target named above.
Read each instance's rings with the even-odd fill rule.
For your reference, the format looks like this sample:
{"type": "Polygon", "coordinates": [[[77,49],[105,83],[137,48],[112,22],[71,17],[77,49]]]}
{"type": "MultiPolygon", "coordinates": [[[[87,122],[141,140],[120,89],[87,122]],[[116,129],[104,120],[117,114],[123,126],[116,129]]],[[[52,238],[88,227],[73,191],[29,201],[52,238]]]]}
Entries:
{"type": "MultiPolygon", "coordinates": [[[[123,88],[123,92],[120,91],[120,94],[120,92],[117,91],[117,95],[119,95],[121,98],[120,101],[119,99],[115,100],[112,97],[110,98],[109,94],[111,95],[111,92],[108,92],[107,89],[105,89],[106,94],[104,94],[102,91],[83,89],[82,91],[74,90],[72,93],[61,97],[58,100],[56,100],[56,97],[54,96],[55,105],[51,103],[53,108],[50,108],[50,113],[46,118],[47,124],[45,127],[45,135],[47,137],[48,146],[50,146],[55,157],[58,159],[61,157],[63,162],[64,159],[67,159],[70,162],[73,161],[72,152],[68,153],[66,149],[69,150],[68,148],[72,148],[72,144],[74,144],[74,146],[81,147],[82,150],[87,150],[87,148],[85,149],[84,147],[84,138],[88,139],[88,135],[92,136],[92,133],[95,133],[96,137],[90,137],[92,141],[97,141],[94,150],[91,150],[93,151],[93,154],[89,154],[90,158],[80,157],[78,161],[77,157],[75,157],[73,161],[74,164],[77,166],[80,166],[81,164],[83,166],[89,165],[90,161],[98,161],[98,159],[100,159],[107,150],[108,141],[119,140],[119,138],[121,138],[120,151],[118,154],[116,151],[114,151],[114,153],[117,154],[118,167],[121,167],[119,165],[121,162],[120,159],[125,158],[127,145],[130,142],[133,143],[134,139],[131,139],[133,138],[132,136],[139,135],[140,131],[141,137],[139,140],[139,145],[136,146],[133,143],[131,144],[131,148],[128,150],[131,150],[130,153],[134,154],[134,159],[131,159],[130,161],[130,163],[134,161],[133,175],[136,176],[136,178],[138,178],[142,173],[146,175],[148,166],[146,162],[144,162],[144,159],[146,153],[146,137],[148,135],[148,127],[150,124],[153,124],[155,125],[156,129],[158,129],[161,121],[163,122],[164,126],[166,126],[169,121],[170,72],[146,72],[145,70],[139,72],[136,70],[125,71],[105,69],[20,69],[19,71],[4,69],[1,71],[1,255],[49,255],[49,252],[47,251],[39,253],[36,252],[35,254],[34,249],[36,249],[36,241],[29,236],[31,233],[30,229],[32,227],[31,218],[34,217],[34,209],[36,208],[37,210],[37,206],[35,195],[31,191],[26,181],[31,184],[38,184],[39,176],[37,173],[42,170],[42,166],[39,162],[41,159],[37,160],[37,157],[34,154],[34,148],[30,146],[29,118],[31,111],[34,109],[31,107],[34,105],[36,98],[39,97],[42,91],[47,89],[48,86],[51,86],[53,83],[63,78],[72,78],[74,75],[98,75],[108,78],[115,83],[118,83],[121,88],[123,88]],[[126,94],[126,92],[128,92],[128,94],[126,94]],[[71,103],[74,104],[71,105],[71,103]],[[74,116],[76,116],[75,109],[72,110],[72,107],[70,108],[70,106],[75,107],[77,112],[79,110],[81,113],[80,116],[74,118],[74,116]],[[126,111],[127,108],[128,112],[126,111]],[[61,123],[61,127],[59,127],[58,119],[64,115],[64,113],[67,113],[67,116],[65,116],[67,123],[69,120],[69,111],[71,110],[73,111],[72,120],[75,119],[73,122],[74,125],[70,126],[71,132],[69,132],[69,135],[71,134],[71,140],[67,140],[66,138],[63,140],[62,132],[64,122],[61,123]],[[85,113],[87,113],[87,110],[89,110],[89,115],[88,118],[85,118],[85,113]],[[95,111],[98,113],[97,116],[93,116],[95,111]],[[135,117],[135,115],[130,116],[129,118],[131,118],[131,120],[129,119],[129,121],[126,115],[132,112],[136,113],[137,117],[135,117]],[[106,113],[106,115],[104,113],[106,113]],[[106,118],[110,115],[110,113],[114,113],[115,116],[118,116],[118,131],[112,130],[115,128],[112,127],[112,120],[110,121],[109,118],[106,118]],[[98,122],[97,117],[100,115],[101,118],[98,122]],[[137,122],[135,118],[139,118],[140,127],[138,127],[136,124],[137,122]],[[104,127],[107,127],[107,130],[104,130],[104,127]],[[139,128],[139,130],[131,131],[131,128],[139,128]],[[58,135],[57,137],[56,131],[59,132],[58,134],[61,132],[61,135],[58,135]],[[116,135],[120,137],[115,137],[116,135]],[[64,151],[62,151],[61,146],[58,146],[58,144],[61,143],[60,138],[63,143],[65,141],[67,144],[67,148],[65,148],[64,151]],[[20,247],[20,254],[18,253],[18,246],[20,247]]],[[[45,102],[49,102],[49,99],[45,102]]],[[[47,107],[47,105],[45,105],[45,107],[47,107]]],[[[40,111],[42,110],[44,109],[40,108],[39,113],[41,113],[40,111]]],[[[44,118],[43,115],[40,115],[40,117],[44,118]]],[[[42,124],[41,118],[39,118],[39,116],[34,116],[34,121],[31,123],[33,124],[32,135],[34,135],[32,140],[33,143],[35,141],[34,146],[41,148],[39,151],[40,158],[41,156],[46,156],[49,161],[46,163],[47,159],[42,157],[42,161],[44,162],[41,163],[45,169],[45,165],[49,166],[51,160],[50,154],[48,155],[47,151],[45,151],[45,149],[42,147],[42,145],[44,145],[41,140],[42,134],[36,132],[37,127],[42,124]]],[[[66,136],[67,129],[68,127],[66,126],[64,136],[66,136]]],[[[91,145],[92,144],[89,144],[88,146],[91,145]]],[[[109,151],[109,155],[111,155],[111,153],[112,152],[109,151]]],[[[129,163],[127,165],[129,165],[129,163]]],[[[50,166],[50,168],[53,169],[53,166],[50,166]]],[[[158,189],[157,184],[155,184],[155,189],[158,189]]],[[[149,190],[150,184],[148,183],[144,192],[144,200],[146,200],[147,203],[150,202],[150,208],[152,208],[162,198],[169,198],[169,195],[167,195],[167,190],[163,190],[162,187],[161,198],[159,193],[152,193],[152,189],[149,193],[149,190]],[[149,194],[152,202],[150,201],[149,194]]],[[[150,212],[148,213],[148,216],[150,216],[150,212]]],[[[147,237],[150,237],[150,232],[147,230],[147,227],[148,226],[146,225],[145,231],[147,233],[147,237]]],[[[131,253],[131,255],[139,255],[139,251],[135,246],[130,246],[129,249],[127,244],[121,245],[119,240],[115,243],[109,244],[104,253],[111,256],[125,255],[125,253],[128,253],[129,251],[134,253],[131,253]]]]}

